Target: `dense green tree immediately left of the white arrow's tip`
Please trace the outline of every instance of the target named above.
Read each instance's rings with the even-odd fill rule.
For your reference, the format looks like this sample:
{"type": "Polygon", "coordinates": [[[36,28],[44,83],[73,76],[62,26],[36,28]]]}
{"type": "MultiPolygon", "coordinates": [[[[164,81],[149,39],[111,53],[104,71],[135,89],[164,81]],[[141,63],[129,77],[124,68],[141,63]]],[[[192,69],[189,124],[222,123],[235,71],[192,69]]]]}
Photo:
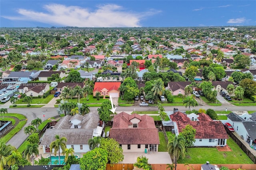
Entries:
{"type": "Polygon", "coordinates": [[[112,114],[110,109],[112,109],[111,102],[109,100],[103,101],[100,108],[98,108],[98,113],[102,121],[107,122],[109,120],[112,114]]]}

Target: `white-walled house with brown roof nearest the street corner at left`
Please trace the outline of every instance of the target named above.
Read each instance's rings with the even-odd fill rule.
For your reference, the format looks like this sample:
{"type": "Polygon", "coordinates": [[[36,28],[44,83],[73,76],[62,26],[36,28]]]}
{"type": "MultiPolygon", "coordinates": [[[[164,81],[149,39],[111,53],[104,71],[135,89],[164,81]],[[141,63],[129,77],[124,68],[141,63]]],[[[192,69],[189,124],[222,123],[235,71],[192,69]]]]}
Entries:
{"type": "Polygon", "coordinates": [[[48,90],[50,90],[50,85],[47,83],[22,83],[18,87],[19,93],[25,93],[27,96],[33,97],[42,96],[48,90]]]}

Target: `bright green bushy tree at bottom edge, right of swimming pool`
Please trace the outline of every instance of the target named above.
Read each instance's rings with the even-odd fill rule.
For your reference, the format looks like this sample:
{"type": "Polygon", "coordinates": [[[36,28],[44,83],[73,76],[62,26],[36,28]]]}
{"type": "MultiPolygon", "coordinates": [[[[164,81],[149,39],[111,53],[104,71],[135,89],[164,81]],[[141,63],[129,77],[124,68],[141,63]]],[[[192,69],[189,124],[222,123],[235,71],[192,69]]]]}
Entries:
{"type": "Polygon", "coordinates": [[[105,170],[108,162],[108,152],[102,148],[95,148],[86,152],[80,159],[81,170],[105,170]]]}

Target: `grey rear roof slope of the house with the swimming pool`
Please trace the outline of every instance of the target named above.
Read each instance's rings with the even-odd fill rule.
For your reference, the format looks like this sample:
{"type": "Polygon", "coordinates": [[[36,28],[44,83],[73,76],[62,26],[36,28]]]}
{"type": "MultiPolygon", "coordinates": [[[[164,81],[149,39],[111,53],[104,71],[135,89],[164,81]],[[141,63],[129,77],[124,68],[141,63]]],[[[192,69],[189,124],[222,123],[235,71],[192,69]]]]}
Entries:
{"type": "Polygon", "coordinates": [[[47,129],[42,138],[41,145],[50,145],[56,140],[55,136],[67,138],[68,145],[70,144],[88,144],[88,140],[93,136],[93,129],[47,129]]]}

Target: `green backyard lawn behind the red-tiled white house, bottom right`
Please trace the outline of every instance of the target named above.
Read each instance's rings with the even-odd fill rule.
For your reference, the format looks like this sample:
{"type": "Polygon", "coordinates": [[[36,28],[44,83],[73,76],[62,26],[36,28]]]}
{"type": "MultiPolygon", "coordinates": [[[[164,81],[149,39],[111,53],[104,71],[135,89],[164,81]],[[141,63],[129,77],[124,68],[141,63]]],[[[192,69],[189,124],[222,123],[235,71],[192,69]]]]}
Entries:
{"type": "Polygon", "coordinates": [[[228,146],[231,152],[219,152],[216,148],[187,148],[186,157],[178,160],[178,164],[253,164],[252,160],[229,138],[228,146]]]}

